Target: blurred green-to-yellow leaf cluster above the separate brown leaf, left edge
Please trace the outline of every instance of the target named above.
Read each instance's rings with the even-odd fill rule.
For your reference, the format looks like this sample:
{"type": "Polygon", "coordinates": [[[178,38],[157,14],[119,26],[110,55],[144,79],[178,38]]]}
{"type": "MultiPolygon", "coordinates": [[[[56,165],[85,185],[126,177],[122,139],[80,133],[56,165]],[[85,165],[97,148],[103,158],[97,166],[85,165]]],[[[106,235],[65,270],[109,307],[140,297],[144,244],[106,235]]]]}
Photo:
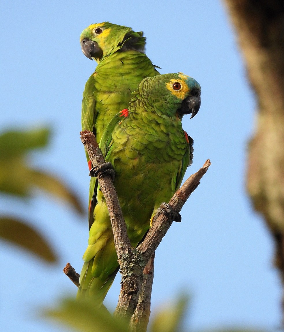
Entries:
{"type": "Polygon", "coordinates": [[[27,153],[48,143],[48,128],[7,131],[0,135],[0,191],[18,197],[31,197],[34,187],[60,198],[80,214],[84,209],[77,195],[60,179],[35,170],[27,162],[27,153]]]}

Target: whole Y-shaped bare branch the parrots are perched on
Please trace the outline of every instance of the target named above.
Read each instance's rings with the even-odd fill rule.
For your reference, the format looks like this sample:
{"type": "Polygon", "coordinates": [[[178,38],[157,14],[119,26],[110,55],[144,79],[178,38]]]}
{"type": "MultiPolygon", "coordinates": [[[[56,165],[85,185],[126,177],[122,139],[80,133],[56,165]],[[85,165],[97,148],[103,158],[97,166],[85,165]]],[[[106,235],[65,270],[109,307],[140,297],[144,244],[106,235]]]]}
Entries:
{"type": "MultiPolygon", "coordinates": [[[[93,166],[99,169],[99,166],[105,163],[105,159],[96,142],[94,134],[91,131],[85,130],[81,132],[81,140],[89,154],[93,166]]],[[[190,178],[185,181],[183,186],[170,200],[169,205],[174,211],[174,219],[190,194],[199,185],[200,179],[206,173],[210,165],[211,163],[208,159],[198,172],[191,175],[190,178]]],[[[100,171],[97,177],[106,200],[114,235],[115,249],[122,275],[121,290],[114,314],[131,319],[130,327],[133,332],[138,330],[146,331],[150,315],[154,253],[173,220],[168,219],[168,217],[163,214],[159,215],[146,235],[145,240],[138,248],[135,249],[131,247],[111,177],[100,171]],[[148,265],[146,266],[147,263],[148,265]]]]}

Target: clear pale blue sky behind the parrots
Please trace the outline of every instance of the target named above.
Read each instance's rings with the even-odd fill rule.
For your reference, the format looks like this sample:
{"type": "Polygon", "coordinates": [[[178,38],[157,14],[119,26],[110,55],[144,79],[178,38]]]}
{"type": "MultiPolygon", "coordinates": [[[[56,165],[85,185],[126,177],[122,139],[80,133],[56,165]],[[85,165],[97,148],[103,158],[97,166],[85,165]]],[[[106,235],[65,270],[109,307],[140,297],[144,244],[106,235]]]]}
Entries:
{"type": "MultiPolygon", "coordinates": [[[[223,4],[219,1],[4,1],[2,2],[0,129],[49,125],[49,148],[34,163],[64,179],[87,208],[88,169],[79,138],[85,82],[95,69],[81,52],[79,36],[91,23],[110,21],[144,31],[146,53],[161,73],[181,71],[201,85],[198,115],[184,117],[194,138],[193,165],[210,158],[207,174],[157,249],[152,311],[178,292],[191,298],[191,330],[280,326],[281,289],[273,268],[273,243],[245,189],[247,143],[256,104],[223,4]]],[[[11,201],[0,200],[0,213],[11,201]]],[[[88,239],[87,221],[40,193],[29,203],[13,201],[15,214],[50,238],[60,264],[46,266],[1,243],[0,329],[63,331],[38,318],[75,286],[62,273],[77,272],[88,239]]],[[[107,303],[115,307],[116,279],[107,303]]]]}

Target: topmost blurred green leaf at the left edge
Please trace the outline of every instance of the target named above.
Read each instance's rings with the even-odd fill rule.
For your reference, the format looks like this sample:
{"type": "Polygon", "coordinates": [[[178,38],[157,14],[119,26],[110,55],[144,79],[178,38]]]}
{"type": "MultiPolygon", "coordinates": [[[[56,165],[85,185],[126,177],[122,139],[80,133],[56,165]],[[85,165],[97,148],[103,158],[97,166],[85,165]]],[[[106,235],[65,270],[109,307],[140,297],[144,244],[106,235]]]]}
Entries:
{"type": "Polygon", "coordinates": [[[45,147],[50,136],[49,128],[32,130],[9,130],[0,135],[0,156],[14,157],[33,150],[45,147]]]}

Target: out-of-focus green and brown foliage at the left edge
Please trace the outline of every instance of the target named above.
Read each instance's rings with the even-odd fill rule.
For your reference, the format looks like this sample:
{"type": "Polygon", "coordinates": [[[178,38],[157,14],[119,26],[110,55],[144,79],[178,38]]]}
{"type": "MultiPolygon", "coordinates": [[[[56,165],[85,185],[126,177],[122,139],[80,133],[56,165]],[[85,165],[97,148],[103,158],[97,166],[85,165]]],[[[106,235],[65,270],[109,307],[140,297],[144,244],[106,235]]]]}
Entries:
{"type": "MultiPolygon", "coordinates": [[[[0,134],[0,193],[27,201],[27,198],[35,196],[35,189],[39,188],[82,214],[79,199],[60,179],[30,166],[29,153],[46,147],[49,137],[48,128],[0,134]]],[[[12,204],[9,208],[14,214],[12,204]]],[[[0,238],[32,251],[48,263],[57,262],[55,251],[43,236],[15,216],[0,216],[0,238]]]]}

